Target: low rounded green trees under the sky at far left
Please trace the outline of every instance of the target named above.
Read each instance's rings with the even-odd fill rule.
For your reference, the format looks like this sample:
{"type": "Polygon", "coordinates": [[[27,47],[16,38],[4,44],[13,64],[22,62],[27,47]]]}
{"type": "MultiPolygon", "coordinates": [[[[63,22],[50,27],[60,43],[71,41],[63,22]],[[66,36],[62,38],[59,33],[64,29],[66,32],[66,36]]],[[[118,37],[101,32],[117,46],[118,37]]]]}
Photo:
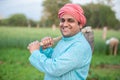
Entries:
{"type": "Polygon", "coordinates": [[[28,26],[36,27],[37,21],[27,19],[24,14],[14,14],[7,19],[0,19],[0,26],[28,26]]]}

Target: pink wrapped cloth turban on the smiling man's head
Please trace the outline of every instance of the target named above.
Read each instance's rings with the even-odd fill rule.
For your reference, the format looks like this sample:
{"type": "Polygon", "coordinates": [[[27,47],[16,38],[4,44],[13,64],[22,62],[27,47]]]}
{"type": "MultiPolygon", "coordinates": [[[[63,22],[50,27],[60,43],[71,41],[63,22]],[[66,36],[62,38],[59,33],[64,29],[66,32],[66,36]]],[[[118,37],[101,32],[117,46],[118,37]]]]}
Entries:
{"type": "Polygon", "coordinates": [[[86,24],[86,17],[80,5],[68,3],[64,5],[58,12],[58,17],[61,18],[64,14],[73,16],[82,26],[86,24]]]}

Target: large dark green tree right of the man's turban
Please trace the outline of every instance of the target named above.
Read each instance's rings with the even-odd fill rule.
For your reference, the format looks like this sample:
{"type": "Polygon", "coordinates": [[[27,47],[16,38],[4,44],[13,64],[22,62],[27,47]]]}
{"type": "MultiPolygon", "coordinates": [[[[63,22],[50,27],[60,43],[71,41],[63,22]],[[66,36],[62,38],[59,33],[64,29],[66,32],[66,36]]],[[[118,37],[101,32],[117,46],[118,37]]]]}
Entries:
{"type": "Polygon", "coordinates": [[[94,28],[102,28],[104,26],[114,28],[119,23],[115,17],[115,12],[107,5],[91,3],[83,6],[83,8],[87,18],[87,25],[91,25],[94,28]]]}

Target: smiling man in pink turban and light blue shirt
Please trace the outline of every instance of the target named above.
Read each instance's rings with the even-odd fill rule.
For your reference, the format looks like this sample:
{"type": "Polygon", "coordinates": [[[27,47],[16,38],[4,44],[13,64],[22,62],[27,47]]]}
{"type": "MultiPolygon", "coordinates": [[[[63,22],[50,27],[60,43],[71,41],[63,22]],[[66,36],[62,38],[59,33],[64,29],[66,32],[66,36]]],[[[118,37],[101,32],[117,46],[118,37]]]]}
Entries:
{"type": "Polygon", "coordinates": [[[58,12],[62,39],[54,49],[50,37],[29,44],[31,64],[45,73],[45,80],[85,80],[92,57],[92,49],[80,31],[86,23],[83,9],[66,4],[58,12]],[[40,48],[40,50],[39,50],[40,48]]]}

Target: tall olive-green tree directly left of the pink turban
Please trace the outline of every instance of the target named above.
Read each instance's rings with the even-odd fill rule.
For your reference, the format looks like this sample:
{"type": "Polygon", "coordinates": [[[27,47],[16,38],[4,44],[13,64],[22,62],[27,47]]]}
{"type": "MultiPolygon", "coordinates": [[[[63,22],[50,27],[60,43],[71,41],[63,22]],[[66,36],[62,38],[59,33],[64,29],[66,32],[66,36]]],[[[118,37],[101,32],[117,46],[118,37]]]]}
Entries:
{"type": "Polygon", "coordinates": [[[44,15],[41,18],[41,26],[52,26],[53,24],[58,25],[58,10],[66,3],[71,3],[70,0],[44,0],[44,15]]]}

